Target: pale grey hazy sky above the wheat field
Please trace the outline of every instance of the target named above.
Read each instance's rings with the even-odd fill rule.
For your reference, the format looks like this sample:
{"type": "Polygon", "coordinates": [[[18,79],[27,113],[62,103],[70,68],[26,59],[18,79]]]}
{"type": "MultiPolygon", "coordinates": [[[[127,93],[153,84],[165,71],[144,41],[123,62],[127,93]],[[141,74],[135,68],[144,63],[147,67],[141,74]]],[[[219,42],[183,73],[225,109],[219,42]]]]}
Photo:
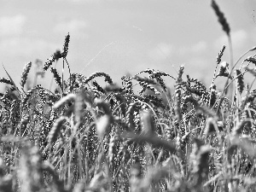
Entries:
{"type": "MultiPolygon", "coordinates": [[[[256,46],[256,0],[216,0],[230,24],[234,60],[256,46]]],[[[45,62],[62,49],[67,32],[67,61],[72,73],[104,72],[115,83],[125,74],[153,68],[176,77],[200,79],[210,86],[216,57],[227,37],[210,0],[0,0],[0,61],[16,84],[27,62],[45,62]],[[185,77],[185,76],[184,76],[185,77]]],[[[248,56],[248,55],[247,55],[248,56]]],[[[0,77],[8,78],[0,66],[0,77]]],[[[56,64],[61,73],[61,62],[56,64]]],[[[68,78],[67,67],[64,69],[68,78]]],[[[147,74],[144,74],[146,76],[147,74]]],[[[38,84],[49,88],[47,72],[38,84]]],[[[174,81],[166,78],[166,84],[174,81]]],[[[219,79],[218,81],[222,81],[219,79]]],[[[218,83],[217,81],[217,83],[218,83]]],[[[3,84],[0,85],[3,89],[3,84]]]]}

